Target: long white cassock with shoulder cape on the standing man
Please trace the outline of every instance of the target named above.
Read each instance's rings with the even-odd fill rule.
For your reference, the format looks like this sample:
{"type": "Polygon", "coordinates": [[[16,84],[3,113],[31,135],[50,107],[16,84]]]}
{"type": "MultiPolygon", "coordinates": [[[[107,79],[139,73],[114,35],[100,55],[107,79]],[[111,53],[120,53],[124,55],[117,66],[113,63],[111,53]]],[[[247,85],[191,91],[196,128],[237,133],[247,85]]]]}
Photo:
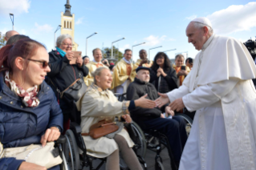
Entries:
{"type": "Polygon", "coordinates": [[[256,169],[256,67],[234,38],[212,35],[183,85],[167,95],[197,111],[180,170],[256,169]]]}

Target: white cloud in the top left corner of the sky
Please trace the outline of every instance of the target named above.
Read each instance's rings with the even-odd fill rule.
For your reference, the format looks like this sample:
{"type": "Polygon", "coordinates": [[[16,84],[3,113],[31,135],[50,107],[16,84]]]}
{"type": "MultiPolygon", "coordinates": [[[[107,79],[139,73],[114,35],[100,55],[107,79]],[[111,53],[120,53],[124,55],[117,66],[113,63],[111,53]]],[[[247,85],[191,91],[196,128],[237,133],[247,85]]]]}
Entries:
{"type": "Polygon", "coordinates": [[[28,13],[28,9],[30,8],[29,0],[0,0],[0,15],[8,15],[9,13],[22,14],[28,13]]]}

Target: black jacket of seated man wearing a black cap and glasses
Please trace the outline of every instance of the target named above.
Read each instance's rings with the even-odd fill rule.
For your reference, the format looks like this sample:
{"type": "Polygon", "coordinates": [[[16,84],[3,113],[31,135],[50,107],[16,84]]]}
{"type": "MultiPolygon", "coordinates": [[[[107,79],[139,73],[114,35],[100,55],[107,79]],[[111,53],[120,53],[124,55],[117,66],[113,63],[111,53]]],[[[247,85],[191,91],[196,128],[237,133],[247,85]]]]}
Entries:
{"type": "MultiPolygon", "coordinates": [[[[140,81],[140,79],[134,79],[132,83],[129,84],[127,89],[127,99],[135,100],[139,99],[141,96],[146,95],[147,99],[155,100],[157,99],[157,91],[156,88],[152,85],[152,83],[144,83],[140,81]]],[[[135,121],[138,120],[146,120],[146,119],[155,119],[161,116],[161,113],[164,112],[165,106],[159,109],[155,108],[142,108],[136,107],[132,111],[130,111],[132,119],[135,121]],[[162,109],[162,110],[161,110],[162,109]]]]}

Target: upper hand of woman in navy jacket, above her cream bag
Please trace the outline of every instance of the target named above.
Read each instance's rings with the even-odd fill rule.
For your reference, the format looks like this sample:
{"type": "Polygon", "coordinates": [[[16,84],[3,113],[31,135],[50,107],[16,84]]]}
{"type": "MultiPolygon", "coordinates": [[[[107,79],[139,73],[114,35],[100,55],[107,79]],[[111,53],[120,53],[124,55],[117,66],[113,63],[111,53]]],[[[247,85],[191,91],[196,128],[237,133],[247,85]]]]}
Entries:
{"type": "Polygon", "coordinates": [[[45,134],[41,137],[41,144],[44,147],[47,142],[58,140],[60,136],[59,129],[57,127],[48,128],[45,134]]]}

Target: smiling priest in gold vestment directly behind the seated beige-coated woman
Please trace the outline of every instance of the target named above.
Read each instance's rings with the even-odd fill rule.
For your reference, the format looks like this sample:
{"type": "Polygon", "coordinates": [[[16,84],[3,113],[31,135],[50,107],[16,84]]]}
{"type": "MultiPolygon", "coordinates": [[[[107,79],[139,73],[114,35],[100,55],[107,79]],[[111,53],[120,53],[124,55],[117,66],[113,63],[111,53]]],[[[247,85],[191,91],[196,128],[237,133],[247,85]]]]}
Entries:
{"type": "MultiPolygon", "coordinates": [[[[103,63],[101,63],[101,59],[102,59],[102,53],[100,48],[95,48],[92,51],[93,54],[93,60],[90,63],[87,63],[86,67],[89,69],[89,73],[86,77],[83,77],[84,83],[88,86],[91,85],[91,83],[93,83],[93,76],[91,75],[91,73],[93,71],[95,71],[98,67],[106,67],[103,63]]],[[[108,64],[108,60],[106,61],[108,64]]]]}

